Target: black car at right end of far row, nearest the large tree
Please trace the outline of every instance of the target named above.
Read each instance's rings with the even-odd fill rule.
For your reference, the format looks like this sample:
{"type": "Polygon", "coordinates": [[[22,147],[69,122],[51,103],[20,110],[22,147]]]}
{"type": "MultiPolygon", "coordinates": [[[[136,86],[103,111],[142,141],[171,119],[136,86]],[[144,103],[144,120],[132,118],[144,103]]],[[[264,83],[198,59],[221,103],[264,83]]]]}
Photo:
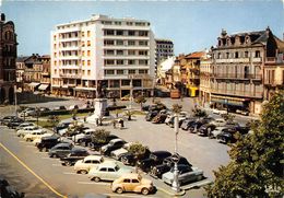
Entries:
{"type": "Polygon", "coordinates": [[[217,136],[217,141],[221,143],[235,143],[237,141],[236,133],[246,135],[249,131],[249,127],[232,127],[223,130],[222,133],[217,136]]]}

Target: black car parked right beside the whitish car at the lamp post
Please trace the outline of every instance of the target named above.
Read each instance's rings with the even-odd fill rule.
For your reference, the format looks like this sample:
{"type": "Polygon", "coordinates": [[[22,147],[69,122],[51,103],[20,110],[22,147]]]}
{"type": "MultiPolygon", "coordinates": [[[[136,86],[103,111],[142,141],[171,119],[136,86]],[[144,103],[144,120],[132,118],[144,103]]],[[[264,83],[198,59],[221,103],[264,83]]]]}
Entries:
{"type": "MultiPolygon", "coordinates": [[[[178,165],[184,164],[184,165],[192,166],[188,162],[188,160],[184,156],[179,156],[179,161],[178,161],[177,164],[178,165]]],[[[169,172],[174,167],[174,165],[175,165],[175,162],[174,162],[173,158],[168,156],[163,161],[163,164],[152,166],[150,175],[153,176],[153,177],[162,178],[162,175],[166,172],[169,172]]]]}

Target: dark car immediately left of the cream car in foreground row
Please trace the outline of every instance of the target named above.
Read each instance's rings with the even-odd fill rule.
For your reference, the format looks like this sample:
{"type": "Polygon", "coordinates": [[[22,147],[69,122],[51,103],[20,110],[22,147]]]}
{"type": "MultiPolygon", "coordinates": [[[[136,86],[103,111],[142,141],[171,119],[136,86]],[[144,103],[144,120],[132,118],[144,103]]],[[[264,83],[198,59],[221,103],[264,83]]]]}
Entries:
{"type": "Polygon", "coordinates": [[[71,166],[87,155],[90,155],[90,153],[85,149],[73,148],[68,155],[60,158],[60,161],[62,165],[71,166]]]}

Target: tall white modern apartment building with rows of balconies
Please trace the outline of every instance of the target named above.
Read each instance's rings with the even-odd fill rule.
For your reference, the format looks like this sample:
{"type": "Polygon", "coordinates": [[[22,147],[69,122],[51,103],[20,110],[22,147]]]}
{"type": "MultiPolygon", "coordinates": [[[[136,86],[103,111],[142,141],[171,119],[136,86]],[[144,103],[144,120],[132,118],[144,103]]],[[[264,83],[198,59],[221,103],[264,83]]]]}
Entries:
{"type": "Polygon", "coordinates": [[[155,39],[147,21],[93,15],[57,25],[51,33],[54,94],[150,94],[154,69],[155,39]]]}

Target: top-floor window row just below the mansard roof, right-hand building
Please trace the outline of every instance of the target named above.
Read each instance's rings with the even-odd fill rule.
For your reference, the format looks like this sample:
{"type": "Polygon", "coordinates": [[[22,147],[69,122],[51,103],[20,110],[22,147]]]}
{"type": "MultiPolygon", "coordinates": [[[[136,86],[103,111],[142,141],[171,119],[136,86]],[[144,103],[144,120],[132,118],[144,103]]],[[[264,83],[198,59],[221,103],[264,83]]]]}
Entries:
{"type": "Polygon", "coordinates": [[[228,58],[250,58],[250,57],[255,57],[255,58],[260,58],[260,50],[256,50],[256,51],[235,51],[235,53],[217,53],[217,54],[213,54],[213,58],[216,59],[228,59],[228,58]]]}

